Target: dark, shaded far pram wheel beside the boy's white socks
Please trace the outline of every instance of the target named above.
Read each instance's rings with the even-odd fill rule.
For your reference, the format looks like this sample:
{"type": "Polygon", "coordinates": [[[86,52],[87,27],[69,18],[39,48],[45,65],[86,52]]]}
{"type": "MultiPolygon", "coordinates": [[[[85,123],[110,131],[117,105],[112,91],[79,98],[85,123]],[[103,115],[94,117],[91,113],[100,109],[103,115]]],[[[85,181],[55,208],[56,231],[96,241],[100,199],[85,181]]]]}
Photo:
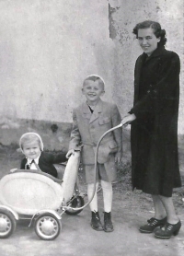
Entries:
{"type": "MultiPolygon", "coordinates": [[[[80,195],[77,195],[76,197],[74,196],[71,198],[70,202],[67,204],[67,206],[70,206],[72,208],[80,208],[85,205],[84,198],[80,195]]],[[[80,212],[82,212],[83,209],[81,210],[66,210],[65,213],[67,215],[78,215],[80,212]]]]}

